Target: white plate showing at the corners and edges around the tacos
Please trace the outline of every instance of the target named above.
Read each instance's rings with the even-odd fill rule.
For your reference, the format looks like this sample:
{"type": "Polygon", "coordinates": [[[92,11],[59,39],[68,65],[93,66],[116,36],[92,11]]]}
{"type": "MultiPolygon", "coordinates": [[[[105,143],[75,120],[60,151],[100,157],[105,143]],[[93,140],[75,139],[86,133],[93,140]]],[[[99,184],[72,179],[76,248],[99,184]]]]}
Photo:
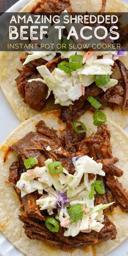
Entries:
{"type": "MultiPolygon", "coordinates": [[[[20,0],[8,9],[8,12],[20,11],[25,4],[29,3],[30,0],[20,0]]],[[[128,5],[128,0],[122,0],[128,5]]],[[[9,133],[15,129],[21,122],[15,116],[12,111],[7,99],[5,99],[2,91],[0,90],[0,120],[1,120],[1,132],[0,132],[0,144],[9,135],[9,133]]],[[[128,134],[128,126],[124,129],[128,134]]],[[[108,253],[106,256],[127,256],[128,252],[128,239],[126,239],[123,244],[118,246],[114,251],[108,253]]],[[[0,232],[0,256],[24,256],[20,251],[18,251],[10,242],[4,237],[0,232]]],[[[42,255],[41,255],[42,256],[42,255]]]]}

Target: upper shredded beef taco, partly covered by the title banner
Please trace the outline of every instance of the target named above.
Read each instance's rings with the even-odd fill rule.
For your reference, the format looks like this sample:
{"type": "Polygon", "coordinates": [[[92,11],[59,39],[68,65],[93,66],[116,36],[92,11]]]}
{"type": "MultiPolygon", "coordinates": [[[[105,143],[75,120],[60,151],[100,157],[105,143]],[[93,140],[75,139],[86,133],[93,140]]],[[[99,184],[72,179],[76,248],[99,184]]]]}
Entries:
{"type": "MultiPolygon", "coordinates": [[[[22,11],[31,13],[72,11],[126,12],[119,1],[31,1],[22,11]],[[102,7],[101,7],[102,4],[102,7]]],[[[127,29],[121,28],[121,38],[127,29]]],[[[117,124],[127,124],[127,56],[118,52],[9,52],[1,54],[1,88],[12,108],[22,121],[40,111],[61,108],[60,119],[76,120],[94,108],[95,99],[104,112],[117,124]],[[82,67],[73,70],[63,67],[74,56],[82,67]],[[121,57],[119,60],[119,57],[121,57]],[[20,61],[19,61],[20,57],[20,61]],[[70,60],[69,60],[70,59],[70,60]],[[20,63],[21,62],[21,63],[20,63]],[[66,69],[68,69],[66,71],[66,69]],[[67,73],[66,73],[67,72],[67,73]],[[100,75],[100,76],[99,76],[100,75]],[[47,79],[48,77],[48,79],[47,79]],[[51,82],[52,81],[52,82],[51,82]],[[53,88],[54,87],[54,88],[53,88]],[[93,103],[88,101],[92,96],[93,103]],[[92,106],[93,105],[93,106],[92,106]]],[[[70,63],[71,65],[71,63],[70,63]]]]}

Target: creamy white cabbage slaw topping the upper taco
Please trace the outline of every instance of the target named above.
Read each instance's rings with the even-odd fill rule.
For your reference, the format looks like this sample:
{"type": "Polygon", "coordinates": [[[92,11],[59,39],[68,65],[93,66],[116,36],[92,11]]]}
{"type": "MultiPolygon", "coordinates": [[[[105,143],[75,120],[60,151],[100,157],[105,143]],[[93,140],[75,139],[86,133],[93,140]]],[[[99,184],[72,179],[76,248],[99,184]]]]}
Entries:
{"type": "MultiPolygon", "coordinates": [[[[71,74],[67,74],[59,68],[55,68],[52,73],[49,72],[48,68],[43,65],[37,67],[37,71],[42,75],[41,78],[30,79],[32,81],[44,82],[48,86],[48,95],[53,92],[55,97],[55,104],[61,106],[72,105],[75,100],[78,100],[82,95],[81,86],[89,86],[95,80],[95,75],[112,74],[111,67],[114,65],[114,57],[117,56],[116,52],[94,52],[93,55],[87,57],[86,52],[59,52],[61,58],[69,58],[74,54],[81,54],[84,56],[83,66],[76,71],[72,71],[71,74]],[[103,59],[98,59],[98,56],[103,55],[103,59]],[[85,61],[86,60],[86,61],[85,61]]],[[[52,60],[55,56],[55,52],[36,52],[28,55],[27,59],[23,63],[25,65],[31,60],[39,59],[43,57],[45,60],[52,60]]],[[[89,55],[88,55],[89,56],[89,55]]],[[[103,91],[117,84],[116,79],[111,79],[110,82],[101,87],[103,91]]],[[[46,99],[47,99],[46,98],[46,99]]]]}

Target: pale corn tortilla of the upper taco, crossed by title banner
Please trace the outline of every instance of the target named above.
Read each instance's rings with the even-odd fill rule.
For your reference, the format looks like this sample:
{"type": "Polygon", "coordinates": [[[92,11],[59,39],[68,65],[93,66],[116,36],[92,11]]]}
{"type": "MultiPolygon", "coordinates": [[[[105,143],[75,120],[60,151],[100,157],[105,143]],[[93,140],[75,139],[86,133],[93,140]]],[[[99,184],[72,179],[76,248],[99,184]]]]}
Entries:
{"type": "MultiPolygon", "coordinates": [[[[33,0],[29,4],[27,4],[22,11],[29,12],[31,8],[35,6],[35,4],[39,2],[39,0],[33,0]]],[[[99,11],[101,9],[101,0],[86,0],[86,1],[74,1],[71,0],[71,5],[74,11],[99,11]]],[[[128,7],[123,3],[120,3],[118,0],[107,0],[106,11],[113,12],[127,12],[128,7]]],[[[18,89],[16,86],[15,79],[18,75],[18,69],[22,68],[22,65],[19,61],[19,57],[22,55],[22,52],[3,52],[0,55],[0,85],[2,91],[4,92],[5,97],[8,99],[11,107],[16,113],[17,117],[24,121],[28,118],[33,117],[35,114],[39,113],[33,109],[31,109],[27,104],[23,102],[20,94],[18,93],[18,89]]],[[[128,68],[127,56],[120,58],[120,60],[125,63],[125,66],[128,68]]],[[[58,108],[52,101],[49,101],[46,110],[53,110],[58,108]]],[[[116,106],[114,107],[114,111],[107,107],[104,112],[107,114],[108,118],[115,121],[121,127],[124,127],[128,123],[128,111],[121,111],[121,108],[116,106]]]]}

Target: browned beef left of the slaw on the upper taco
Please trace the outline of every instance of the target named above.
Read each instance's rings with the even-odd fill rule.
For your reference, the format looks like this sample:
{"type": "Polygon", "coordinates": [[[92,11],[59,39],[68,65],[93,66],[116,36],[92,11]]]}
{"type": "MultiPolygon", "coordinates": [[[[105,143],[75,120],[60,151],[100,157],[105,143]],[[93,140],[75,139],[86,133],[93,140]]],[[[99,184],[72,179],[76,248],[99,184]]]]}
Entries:
{"type": "MultiPolygon", "coordinates": [[[[28,54],[21,57],[21,62],[24,62],[27,56],[28,54]]],[[[42,78],[36,67],[46,64],[49,71],[52,72],[60,61],[60,56],[47,63],[43,59],[38,59],[29,62],[23,67],[22,71],[19,71],[20,74],[16,78],[18,92],[24,99],[24,103],[28,104],[30,108],[33,108],[36,111],[41,111],[47,103],[47,85],[40,81],[28,82],[30,79],[42,78]]]]}

